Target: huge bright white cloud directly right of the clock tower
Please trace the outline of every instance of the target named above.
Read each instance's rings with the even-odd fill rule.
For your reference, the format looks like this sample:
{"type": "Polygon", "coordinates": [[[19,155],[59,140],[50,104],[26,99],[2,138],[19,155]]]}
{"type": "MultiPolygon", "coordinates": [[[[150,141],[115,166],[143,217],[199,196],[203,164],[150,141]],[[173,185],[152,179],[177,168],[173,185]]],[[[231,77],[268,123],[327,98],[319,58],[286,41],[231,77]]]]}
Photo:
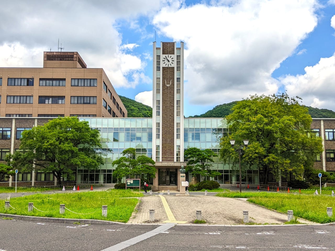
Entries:
{"type": "Polygon", "coordinates": [[[185,42],[185,93],[193,104],[277,92],[272,72],[317,25],[314,0],[179,4],[162,8],[153,23],[185,42]]]}

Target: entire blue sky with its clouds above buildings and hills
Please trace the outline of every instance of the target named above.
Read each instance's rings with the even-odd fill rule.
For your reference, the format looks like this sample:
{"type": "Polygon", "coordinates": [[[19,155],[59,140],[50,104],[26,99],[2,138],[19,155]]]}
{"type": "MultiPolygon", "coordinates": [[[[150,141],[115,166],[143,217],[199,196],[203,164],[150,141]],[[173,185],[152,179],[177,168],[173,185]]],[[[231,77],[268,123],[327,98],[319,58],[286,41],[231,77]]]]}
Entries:
{"type": "Polygon", "coordinates": [[[0,67],[42,67],[59,38],[119,95],[151,105],[156,31],[185,43],[185,116],[285,90],[335,110],[334,15],[335,0],[6,1],[0,67]]]}

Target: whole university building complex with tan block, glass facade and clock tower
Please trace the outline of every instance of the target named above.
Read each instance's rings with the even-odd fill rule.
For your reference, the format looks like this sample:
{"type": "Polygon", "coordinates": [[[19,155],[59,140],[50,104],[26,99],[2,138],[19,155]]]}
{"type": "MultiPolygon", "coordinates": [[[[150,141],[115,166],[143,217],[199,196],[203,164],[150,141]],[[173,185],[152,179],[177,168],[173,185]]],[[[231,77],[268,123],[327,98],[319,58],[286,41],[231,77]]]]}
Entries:
{"type": "MultiPolygon", "coordinates": [[[[100,152],[103,153],[104,164],[95,171],[73,170],[76,183],[120,182],[113,176],[115,167],[112,166],[112,162],[122,156],[124,149],[132,147],[136,149],[136,156],[147,155],[156,162],[156,178],[150,181],[153,190],[166,186],[177,189],[179,169],[182,165],[186,166],[187,164],[184,160],[184,150],[189,147],[197,147],[199,149],[211,149],[219,155],[220,139],[229,133],[225,119],[184,118],[183,42],[153,43],[152,118],[127,117],[127,111],[103,69],[87,69],[76,52],[45,52],[44,68],[0,68],[0,75],[2,77],[6,76],[2,80],[3,90],[1,93],[8,93],[6,96],[7,102],[0,104],[0,116],[4,117],[7,114],[13,116],[12,118],[0,118],[0,126],[2,127],[0,128],[2,130],[0,160],[4,159],[6,153],[13,152],[18,148],[20,133],[23,130],[43,124],[50,119],[46,118],[48,116],[42,118],[40,116],[42,114],[51,114],[50,116],[55,114],[77,115],[79,120],[88,121],[92,129],[100,131],[102,144],[100,152]],[[48,55],[50,56],[48,57],[48,55]],[[63,55],[66,57],[63,58],[63,55]],[[29,84],[29,79],[32,76],[35,76],[34,79],[39,83],[38,85],[18,86],[18,84],[15,85],[16,80],[12,85],[12,78],[26,78],[28,80],[24,80],[26,82],[23,81],[23,83],[29,84]],[[50,78],[52,77],[57,78],[57,80],[65,79],[64,86],[58,86],[57,80],[56,85],[54,85],[54,82],[51,85],[50,78]],[[95,79],[96,85],[94,86],[93,80],[93,86],[91,86],[91,82],[89,82],[90,86],[87,86],[88,82],[85,84],[85,79],[90,79],[89,81],[95,79]],[[48,85],[47,80],[49,81],[48,85]],[[22,91],[22,88],[25,88],[25,91],[22,91]],[[45,88],[48,88],[48,90],[45,88]],[[49,103],[50,98],[41,99],[41,102],[48,100],[48,103],[46,101],[43,104],[35,103],[34,99],[34,102],[28,105],[8,102],[8,100],[11,102],[11,98],[8,99],[8,96],[20,96],[26,94],[27,90],[29,90],[28,92],[37,90],[35,92],[31,91],[31,93],[38,100],[40,100],[40,96],[61,96],[64,97],[64,103],[53,103],[52,97],[51,103],[49,103]],[[95,96],[96,103],[73,103],[74,99],[72,97],[80,97],[76,100],[81,100],[81,96],[86,95],[95,96]],[[107,103],[107,109],[105,102],[107,103]],[[109,112],[109,107],[112,113],[109,112]],[[32,115],[31,118],[27,118],[20,114],[32,115]],[[16,117],[14,118],[14,116],[16,117]]],[[[335,119],[313,119],[311,128],[308,133],[321,137],[325,149],[320,156],[316,157],[315,168],[335,172],[335,119]]],[[[99,154],[99,151],[95,154],[99,154]]],[[[238,165],[222,163],[219,157],[214,157],[213,160],[213,169],[221,173],[214,178],[215,180],[225,184],[239,180],[238,165]]],[[[244,171],[242,177],[242,181],[247,182],[261,183],[264,181],[264,175],[258,168],[244,171]]],[[[1,179],[0,177],[0,186],[12,185],[14,178],[4,179],[2,177],[1,179]]],[[[186,173],[186,180],[190,181],[191,178],[191,174],[186,173]]],[[[201,177],[197,178],[199,180],[201,177]]],[[[282,174],[279,185],[284,186],[287,181],[293,178],[289,173],[282,174]]],[[[66,177],[63,177],[63,179],[64,182],[68,181],[66,177]]],[[[57,182],[52,174],[40,172],[19,174],[18,181],[21,181],[22,185],[53,185],[57,182]]],[[[274,177],[270,175],[269,183],[271,182],[278,184],[274,177]]]]}

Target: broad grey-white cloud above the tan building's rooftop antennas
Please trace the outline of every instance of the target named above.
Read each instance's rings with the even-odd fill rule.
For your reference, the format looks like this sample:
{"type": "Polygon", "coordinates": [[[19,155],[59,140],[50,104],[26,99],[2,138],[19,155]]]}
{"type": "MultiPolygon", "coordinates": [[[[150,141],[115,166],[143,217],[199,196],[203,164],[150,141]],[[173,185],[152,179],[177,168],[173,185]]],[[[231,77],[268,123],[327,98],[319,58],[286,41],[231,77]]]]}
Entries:
{"type": "Polygon", "coordinates": [[[122,45],[116,20],[152,15],[163,4],[165,0],[5,1],[0,8],[0,67],[42,67],[43,51],[57,51],[59,38],[64,51],[79,52],[87,67],[104,68],[115,87],[134,88],[146,79],[146,62],[131,52],[137,44],[122,45]]]}

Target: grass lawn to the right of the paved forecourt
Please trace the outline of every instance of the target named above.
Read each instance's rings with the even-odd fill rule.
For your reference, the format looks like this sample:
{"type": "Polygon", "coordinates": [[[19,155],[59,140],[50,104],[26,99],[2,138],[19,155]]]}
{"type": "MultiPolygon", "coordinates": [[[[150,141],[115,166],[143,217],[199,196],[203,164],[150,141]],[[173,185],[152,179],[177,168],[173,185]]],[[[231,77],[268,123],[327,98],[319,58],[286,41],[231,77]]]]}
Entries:
{"type": "Polygon", "coordinates": [[[329,195],[308,195],[293,193],[268,193],[268,192],[223,192],[216,196],[231,198],[248,198],[248,201],[262,205],[271,210],[287,213],[293,210],[295,217],[317,223],[335,222],[335,214],[329,218],[327,207],[335,211],[335,197],[329,195]]]}

